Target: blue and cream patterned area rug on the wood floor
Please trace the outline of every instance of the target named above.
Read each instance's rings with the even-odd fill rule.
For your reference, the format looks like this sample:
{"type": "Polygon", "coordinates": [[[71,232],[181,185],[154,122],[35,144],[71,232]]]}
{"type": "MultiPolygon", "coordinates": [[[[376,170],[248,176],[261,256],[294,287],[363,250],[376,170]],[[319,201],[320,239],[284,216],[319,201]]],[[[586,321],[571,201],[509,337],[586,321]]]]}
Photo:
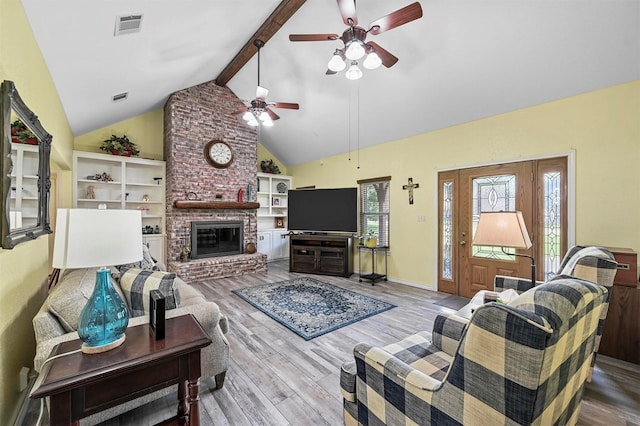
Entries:
{"type": "Polygon", "coordinates": [[[395,307],[308,277],[233,290],[233,293],[305,340],[395,307]]]}

